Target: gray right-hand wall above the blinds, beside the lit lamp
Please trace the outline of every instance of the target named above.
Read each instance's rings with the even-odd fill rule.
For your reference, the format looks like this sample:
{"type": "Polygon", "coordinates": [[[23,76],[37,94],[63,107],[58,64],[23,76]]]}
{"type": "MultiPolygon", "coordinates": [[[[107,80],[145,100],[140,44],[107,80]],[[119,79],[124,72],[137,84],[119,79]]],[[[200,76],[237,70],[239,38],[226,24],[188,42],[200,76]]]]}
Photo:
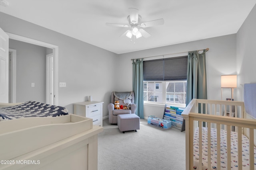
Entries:
{"type": "Polygon", "coordinates": [[[256,83],[256,6],[240,27],[236,35],[236,70],[238,74],[238,100],[243,101],[243,85],[256,83]]]}

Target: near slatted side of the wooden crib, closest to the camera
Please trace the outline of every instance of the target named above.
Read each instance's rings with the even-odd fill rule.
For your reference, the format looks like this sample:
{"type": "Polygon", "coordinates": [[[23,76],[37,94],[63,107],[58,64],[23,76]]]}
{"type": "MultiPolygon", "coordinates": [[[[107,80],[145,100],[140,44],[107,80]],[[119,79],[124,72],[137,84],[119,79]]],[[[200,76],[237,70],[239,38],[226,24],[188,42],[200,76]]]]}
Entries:
{"type": "MultiPolygon", "coordinates": [[[[211,128],[211,124],[216,124],[217,129],[217,169],[220,168],[220,129],[221,125],[226,125],[226,131],[227,131],[227,169],[231,169],[231,143],[230,143],[230,132],[231,127],[236,126],[238,129],[238,169],[242,169],[242,128],[249,128],[250,136],[249,136],[249,154],[250,154],[250,170],[254,170],[254,129],[256,129],[256,120],[249,120],[249,119],[240,119],[237,117],[224,117],[219,115],[206,115],[206,114],[198,114],[198,113],[190,113],[189,114],[189,121],[190,121],[190,170],[193,170],[193,134],[194,134],[194,128],[193,123],[194,121],[198,121],[199,125],[199,164],[202,164],[202,122],[208,123],[208,129],[211,128]]],[[[210,136],[210,130],[208,130],[208,139],[211,138],[210,136]]],[[[211,146],[211,140],[208,140],[208,146],[211,146]]],[[[210,147],[208,147],[208,153],[210,153],[210,147]]],[[[208,160],[211,160],[211,154],[208,154],[208,160]]],[[[208,169],[211,169],[210,161],[208,161],[208,169]]],[[[201,168],[198,167],[200,170],[201,168]]]]}

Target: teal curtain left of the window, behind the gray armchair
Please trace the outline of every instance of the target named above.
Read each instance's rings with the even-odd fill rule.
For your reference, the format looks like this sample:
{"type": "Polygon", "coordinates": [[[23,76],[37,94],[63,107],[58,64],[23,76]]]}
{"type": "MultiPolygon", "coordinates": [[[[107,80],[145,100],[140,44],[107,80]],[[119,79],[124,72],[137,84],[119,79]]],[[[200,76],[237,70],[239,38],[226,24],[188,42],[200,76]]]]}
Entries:
{"type": "Polygon", "coordinates": [[[137,104],[135,114],[144,119],[143,59],[132,61],[132,90],[134,91],[134,103],[137,104]]]}

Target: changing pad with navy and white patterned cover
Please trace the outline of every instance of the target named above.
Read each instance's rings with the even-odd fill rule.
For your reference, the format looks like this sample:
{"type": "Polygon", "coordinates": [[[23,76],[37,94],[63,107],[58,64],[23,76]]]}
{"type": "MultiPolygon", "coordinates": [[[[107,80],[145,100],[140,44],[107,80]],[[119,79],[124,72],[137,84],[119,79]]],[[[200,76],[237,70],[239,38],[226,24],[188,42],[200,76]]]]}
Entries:
{"type": "Polygon", "coordinates": [[[28,101],[16,106],[0,107],[0,121],[23,117],[56,117],[67,115],[65,107],[28,101]]]}

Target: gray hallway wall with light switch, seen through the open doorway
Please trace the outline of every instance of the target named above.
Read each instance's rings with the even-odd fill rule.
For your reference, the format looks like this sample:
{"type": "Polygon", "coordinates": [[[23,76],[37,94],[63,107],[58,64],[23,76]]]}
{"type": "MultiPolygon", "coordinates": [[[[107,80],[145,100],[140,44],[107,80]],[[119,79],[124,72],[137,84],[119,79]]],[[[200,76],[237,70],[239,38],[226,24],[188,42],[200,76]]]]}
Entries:
{"type": "Polygon", "coordinates": [[[16,102],[46,102],[46,47],[9,40],[16,49],[16,102]],[[31,87],[31,83],[35,87],[31,87]]]}

